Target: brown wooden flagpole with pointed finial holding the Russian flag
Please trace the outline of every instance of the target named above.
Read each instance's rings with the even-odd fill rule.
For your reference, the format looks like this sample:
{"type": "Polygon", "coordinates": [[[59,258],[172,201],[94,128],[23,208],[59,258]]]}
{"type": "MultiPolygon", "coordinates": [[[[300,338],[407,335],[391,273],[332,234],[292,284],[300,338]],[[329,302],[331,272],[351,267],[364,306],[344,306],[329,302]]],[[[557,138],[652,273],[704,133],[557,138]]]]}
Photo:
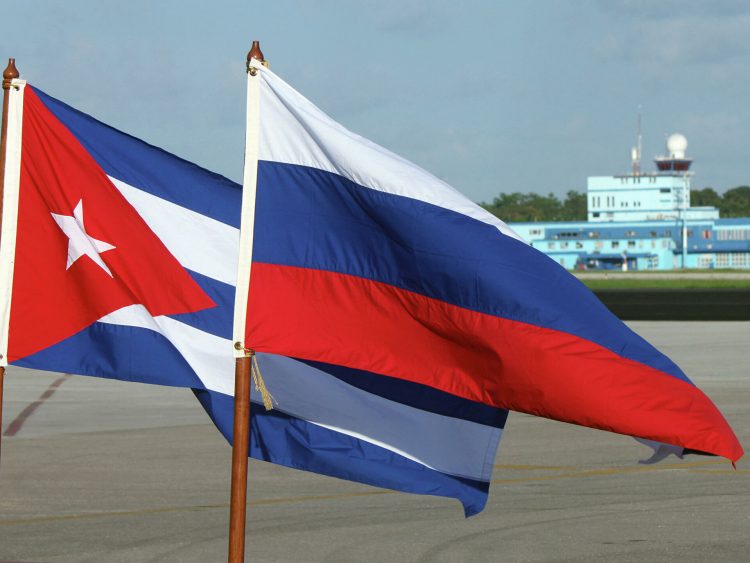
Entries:
{"type": "MultiPolygon", "coordinates": [[[[267,64],[257,41],[247,54],[247,72],[255,75],[250,61],[267,64]]],[[[243,314],[245,314],[243,312],[243,314]]],[[[244,340],[244,338],[242,338],[244,340]]],[[[232,441],[232,491],[229,504],[229,563],[245,560],[245,516],[247,513],[247,464],[250,446],[250,378],[254,351],[236,342],[244,354],[235,358],[234,368],[234,439],[232,441]]]]}

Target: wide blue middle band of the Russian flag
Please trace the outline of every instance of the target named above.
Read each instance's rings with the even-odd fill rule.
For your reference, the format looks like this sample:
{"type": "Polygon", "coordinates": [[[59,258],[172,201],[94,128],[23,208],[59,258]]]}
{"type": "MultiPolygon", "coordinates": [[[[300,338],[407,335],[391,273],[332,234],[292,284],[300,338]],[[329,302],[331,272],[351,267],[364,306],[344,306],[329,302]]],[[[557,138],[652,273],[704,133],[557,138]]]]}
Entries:
{"type": "Polygon", "coordinates": [[[359,276],[563,331],[689,381],[539,251],[492,225],[330,172],[259,163],[253,260],[359,276]]]}

